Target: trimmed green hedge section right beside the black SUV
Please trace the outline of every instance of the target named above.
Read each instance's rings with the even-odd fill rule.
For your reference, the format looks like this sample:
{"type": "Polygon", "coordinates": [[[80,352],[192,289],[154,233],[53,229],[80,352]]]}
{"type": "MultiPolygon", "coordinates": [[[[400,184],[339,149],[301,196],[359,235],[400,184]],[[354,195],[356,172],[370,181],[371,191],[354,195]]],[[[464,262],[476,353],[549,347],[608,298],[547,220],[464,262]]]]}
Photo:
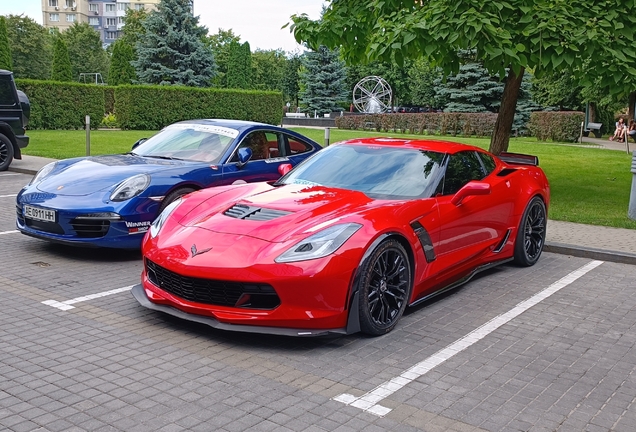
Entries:
{"type": "Polygon", "coordinates": [[[91,127],[104,117],[104,90],[100,86],[59,81],[16,79],[29,97],[29,129],[83,129],[86,115],[91,127]]]}

